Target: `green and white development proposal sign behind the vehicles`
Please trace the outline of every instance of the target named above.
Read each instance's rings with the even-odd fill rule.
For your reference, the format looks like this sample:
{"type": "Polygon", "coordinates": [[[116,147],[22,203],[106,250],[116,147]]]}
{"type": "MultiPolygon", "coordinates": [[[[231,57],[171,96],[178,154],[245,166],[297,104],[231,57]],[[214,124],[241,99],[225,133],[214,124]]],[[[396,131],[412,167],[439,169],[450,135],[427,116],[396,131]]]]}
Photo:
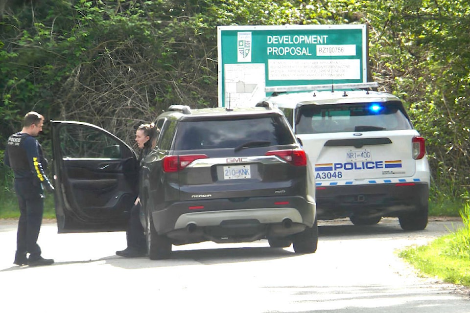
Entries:
{"type": "Polygon", "coordinates": [[[218,105],[286,86],[367,82],[367,25],[218,26],[218,105]]]}

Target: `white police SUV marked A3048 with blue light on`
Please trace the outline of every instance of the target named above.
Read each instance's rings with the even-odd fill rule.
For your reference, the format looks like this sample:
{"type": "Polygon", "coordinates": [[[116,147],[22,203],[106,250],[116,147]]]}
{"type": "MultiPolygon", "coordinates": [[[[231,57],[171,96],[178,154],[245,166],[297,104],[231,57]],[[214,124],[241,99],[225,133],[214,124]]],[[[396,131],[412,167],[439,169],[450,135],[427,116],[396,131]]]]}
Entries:
{"type": "Polygon", "coordinates": [[[313,163],[319,220],[372,225],[398,217],[402,229],[422,230],[430,180],[424,138],[399,98],[368,90],[376,86],[273,90],[262,103],[284,112],[313,163]]]}

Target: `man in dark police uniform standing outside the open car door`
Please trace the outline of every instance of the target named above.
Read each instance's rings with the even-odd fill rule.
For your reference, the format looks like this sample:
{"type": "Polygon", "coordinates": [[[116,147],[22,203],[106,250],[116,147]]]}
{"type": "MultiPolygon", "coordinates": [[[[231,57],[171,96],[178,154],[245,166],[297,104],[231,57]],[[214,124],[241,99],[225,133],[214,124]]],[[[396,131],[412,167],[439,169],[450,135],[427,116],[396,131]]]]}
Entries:
{"type": "Polygon", "coordinates": [[[15,173],[15,191],[20,206],[20,220],[16,238],[16,265],[40,266],[54,263],[41,256],[37,244],[43,220],[44,188],[54,187],[44,173],[47,160],[41,145],[34,138],[43,130],[44,116],[37,112],[24,115],[21,132],[8,137],[4,161],[15,173]],[[29,253],[29,257],[26,254],[29,253]]]}

